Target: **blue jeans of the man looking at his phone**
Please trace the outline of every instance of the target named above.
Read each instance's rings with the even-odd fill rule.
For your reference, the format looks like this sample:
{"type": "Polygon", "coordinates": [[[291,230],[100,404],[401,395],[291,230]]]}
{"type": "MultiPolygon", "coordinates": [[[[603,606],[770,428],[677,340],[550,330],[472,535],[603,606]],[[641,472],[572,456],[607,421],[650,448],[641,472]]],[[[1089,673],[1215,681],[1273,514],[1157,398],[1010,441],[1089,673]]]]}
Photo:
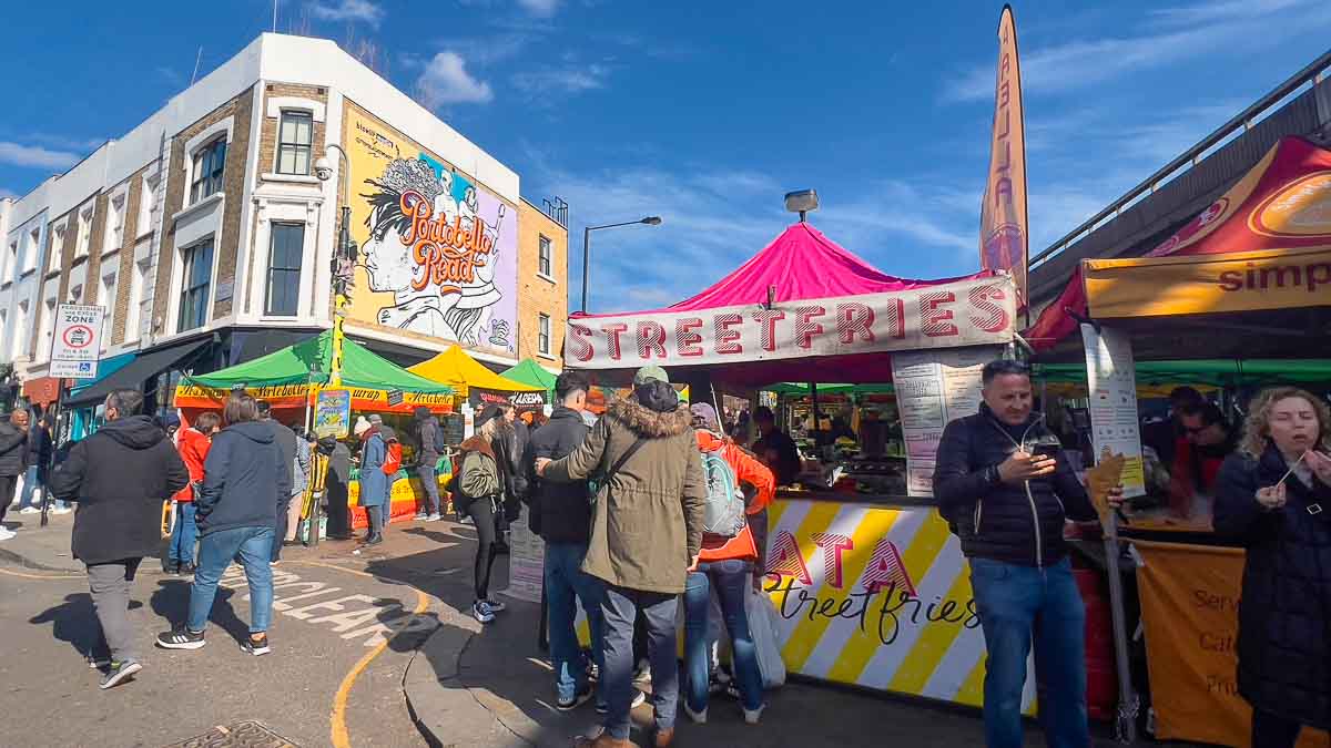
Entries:
{"type": "Polygon", "coordinates": [[[985,632],[985,744],[1021,748],[1021,691],[1036,643],[1040,724],[1050,748],[1086,748],[1086,608],[1067,559],[1038,568],[970,559],[985,632]]]}

